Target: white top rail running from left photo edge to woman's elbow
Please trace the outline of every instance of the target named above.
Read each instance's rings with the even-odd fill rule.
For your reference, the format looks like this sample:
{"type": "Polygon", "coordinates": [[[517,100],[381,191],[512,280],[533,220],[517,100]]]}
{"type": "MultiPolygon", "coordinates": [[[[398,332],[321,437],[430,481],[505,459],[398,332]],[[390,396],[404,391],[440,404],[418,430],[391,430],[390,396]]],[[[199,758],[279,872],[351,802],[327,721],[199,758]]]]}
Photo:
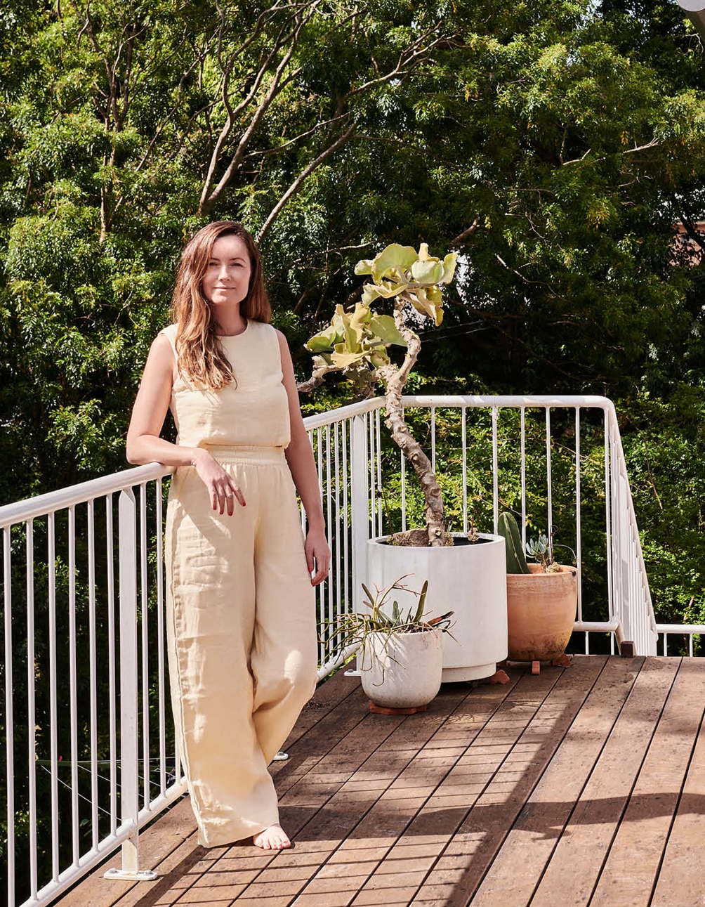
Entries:
{"type": "Polygon", "coordinates": [[[171,472],[169,467],[161,463],[147,463],[146,466],[136,466],[134,469],[124,469],[120,473],[102,475],[100,479],[60,488],[55,492],[38,494],[35,498],[27,498],[25,501],[5,504],[4,507],[0,507],[0,529],[25,520],[34,520],[75,504],[82,504],[93,498],[120,492],[123,488],[150,482],[171,472]]]}

